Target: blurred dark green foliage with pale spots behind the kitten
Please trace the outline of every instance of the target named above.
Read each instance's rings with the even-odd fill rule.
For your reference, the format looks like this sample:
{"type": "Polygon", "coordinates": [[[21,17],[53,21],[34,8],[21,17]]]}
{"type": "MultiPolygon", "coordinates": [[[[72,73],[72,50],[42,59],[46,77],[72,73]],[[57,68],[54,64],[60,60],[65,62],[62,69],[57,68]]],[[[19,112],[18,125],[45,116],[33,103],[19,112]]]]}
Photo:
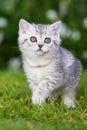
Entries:
{"type": "Polygon", "coordinates": [[[87,0],[0,0],[0,69],[20,69],[18,23],[63,21],[62,46],[87,67],[87,0]]]}

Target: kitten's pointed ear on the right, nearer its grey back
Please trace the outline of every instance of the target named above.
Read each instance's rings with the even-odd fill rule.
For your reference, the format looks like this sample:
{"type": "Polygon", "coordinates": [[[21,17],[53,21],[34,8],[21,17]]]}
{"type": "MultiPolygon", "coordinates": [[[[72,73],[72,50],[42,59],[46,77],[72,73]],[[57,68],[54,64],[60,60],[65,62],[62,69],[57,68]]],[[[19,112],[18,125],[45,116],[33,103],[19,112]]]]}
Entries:
{"type": "Polygon", "coordinates": [[[62,29],[62,22],[58,21],[50,25],[50,29],[55,35],[60,35],[62,29]]]}

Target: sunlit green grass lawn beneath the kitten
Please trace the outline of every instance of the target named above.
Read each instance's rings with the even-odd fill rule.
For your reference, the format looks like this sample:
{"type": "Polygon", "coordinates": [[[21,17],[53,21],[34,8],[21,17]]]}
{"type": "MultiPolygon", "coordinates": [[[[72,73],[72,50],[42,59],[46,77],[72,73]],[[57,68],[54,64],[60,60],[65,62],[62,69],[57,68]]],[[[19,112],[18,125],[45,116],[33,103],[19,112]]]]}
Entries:
{"type": "Polygon", "coordinates": [[[24,73],[0,71],[0,130],[87,130],[87,70],[76,104],[76,109],[68,109],[59,99],[35,106],[24,73]]]}

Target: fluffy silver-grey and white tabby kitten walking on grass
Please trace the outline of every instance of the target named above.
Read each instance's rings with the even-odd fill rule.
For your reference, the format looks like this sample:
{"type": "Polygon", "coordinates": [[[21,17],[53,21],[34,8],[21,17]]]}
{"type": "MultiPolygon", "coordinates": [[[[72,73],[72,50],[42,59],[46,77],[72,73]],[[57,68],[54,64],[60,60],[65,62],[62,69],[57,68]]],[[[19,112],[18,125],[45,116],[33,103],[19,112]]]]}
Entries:
{"type": "Polygon", "coordinates": [[[30,24],[23,19],[19,22],[19,48],[34,104],[42,105],[48,97],[56,99],[61,90],[64,104],[76,106],[82,65],[60,46],[61,28],[61,21],[51,25],[30,24]]]}

